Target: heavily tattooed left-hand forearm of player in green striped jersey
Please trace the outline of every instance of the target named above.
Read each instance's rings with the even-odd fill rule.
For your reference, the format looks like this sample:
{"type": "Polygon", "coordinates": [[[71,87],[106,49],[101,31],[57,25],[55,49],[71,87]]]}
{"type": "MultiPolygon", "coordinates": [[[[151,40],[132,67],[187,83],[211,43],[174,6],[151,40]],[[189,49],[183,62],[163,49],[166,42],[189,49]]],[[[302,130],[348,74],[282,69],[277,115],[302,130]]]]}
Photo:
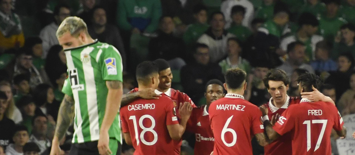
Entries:
{"type": "Polygon", "coordinates": [[[60,104],[57,126],[52,141],[51,155],[61,154],[59,148],[59,141],[64,137],[65,132],[74,120],[74,99],[68,95],[64,96],[62,103],[60,104]]]}

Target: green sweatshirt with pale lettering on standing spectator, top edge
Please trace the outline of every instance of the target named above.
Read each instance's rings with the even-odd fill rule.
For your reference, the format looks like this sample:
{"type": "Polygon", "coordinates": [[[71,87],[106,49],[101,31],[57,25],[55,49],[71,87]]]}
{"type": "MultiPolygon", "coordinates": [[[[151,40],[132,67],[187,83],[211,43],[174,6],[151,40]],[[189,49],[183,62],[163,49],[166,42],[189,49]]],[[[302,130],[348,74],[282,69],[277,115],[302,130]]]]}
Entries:
{"type": "Polygon", "coordinates": [[[158,28],[162,15],[160,0],[120,0],[118,26],[132,33],[152,33],[158,28]]]}

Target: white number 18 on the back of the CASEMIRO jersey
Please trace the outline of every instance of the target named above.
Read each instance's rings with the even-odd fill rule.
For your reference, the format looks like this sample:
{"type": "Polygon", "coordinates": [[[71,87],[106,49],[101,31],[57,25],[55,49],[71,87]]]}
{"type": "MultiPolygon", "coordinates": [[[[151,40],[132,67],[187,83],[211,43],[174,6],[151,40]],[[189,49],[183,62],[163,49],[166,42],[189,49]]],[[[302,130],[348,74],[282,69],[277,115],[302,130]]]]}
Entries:
{"type": "MultiPolygon", "coordinates": [[[[134,127],[135,137],[136,137],[137,146],[138,146],[138,144],[139,144],[139,138],[138,138],[138,129],[137,129],[136,116],[130,116],[129,119],[133,121],[133,127],[134,127]]],[[[138,122],[138,123],[139,123],[139,127],[140,127],[141,129],[143,129],[143,131],[142,131],[141,134],[140,134],[140,139],[141,139],[142,143],[145,144],[145,145],[149,145],[149,146],[150,146],[150,145],[154,145],[155,143],[157,143],[157,141],[158,141],[158,134],[157,134],[157,132],[155,132],[155,131],[153,130],[153,128],[155,127],[155,120],[154,120],[154,118],[153,118],[151,115],[143,115],[143,116],[139,119],[139,122],[138,122]],[[152,121],[152,126],[151,126],[151,127],[145,127],[145,126],[143,125],[143,120],[146,119],[146,118],[147,118],[147,119],[150,119],[150,120],[152,121]],[[147,142],[147,140],[144,139],[144,134],[145,134],[146,132],[152,132],[152,133],[153,133],[154,139],[153,139],[152,142],[147,142]]]]}

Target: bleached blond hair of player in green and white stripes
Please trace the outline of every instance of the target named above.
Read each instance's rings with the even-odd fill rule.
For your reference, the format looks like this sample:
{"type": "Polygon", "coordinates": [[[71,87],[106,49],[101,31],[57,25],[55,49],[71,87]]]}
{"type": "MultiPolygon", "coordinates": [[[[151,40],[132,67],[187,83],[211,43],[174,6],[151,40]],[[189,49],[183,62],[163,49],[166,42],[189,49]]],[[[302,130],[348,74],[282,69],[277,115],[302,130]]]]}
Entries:
{"type": "Polygon", "coordinates": [[[79,34],[84,31],[88,34],[88,28],[83,19],[79,17],[67,17],[64,21],[59,25],[59,28],[56,32],[57,38],[61,37],[64,33],[70,32],[71,36],[78,37],[79,34]]]}

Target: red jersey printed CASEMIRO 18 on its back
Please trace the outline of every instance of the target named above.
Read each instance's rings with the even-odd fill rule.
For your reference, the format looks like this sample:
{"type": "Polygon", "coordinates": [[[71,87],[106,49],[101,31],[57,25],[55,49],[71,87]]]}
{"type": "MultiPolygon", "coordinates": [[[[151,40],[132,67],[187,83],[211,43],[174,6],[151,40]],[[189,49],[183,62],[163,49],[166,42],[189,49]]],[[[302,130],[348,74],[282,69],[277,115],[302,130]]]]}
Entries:
{"type": "Polygon", "coordinates": [[[179,122],[169,97],[137,99],[122,107],[120,116],[122,132],[130,133],[135,155],[170,155],[174,152],[174,142],[166,126],[179,122]]]}

